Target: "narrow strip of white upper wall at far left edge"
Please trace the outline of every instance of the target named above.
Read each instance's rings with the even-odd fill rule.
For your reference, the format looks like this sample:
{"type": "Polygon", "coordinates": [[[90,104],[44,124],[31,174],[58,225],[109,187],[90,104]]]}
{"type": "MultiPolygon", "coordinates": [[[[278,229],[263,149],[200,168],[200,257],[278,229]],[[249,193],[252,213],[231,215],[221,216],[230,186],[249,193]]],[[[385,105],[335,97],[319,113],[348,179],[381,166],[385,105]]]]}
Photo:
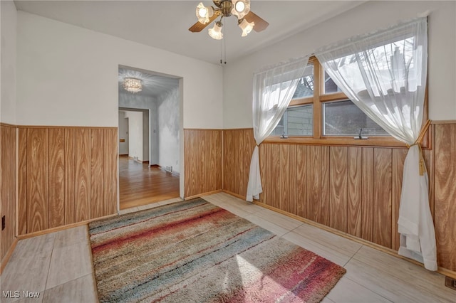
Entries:
{"type": "Polygon", "coordinates": [[[16,124],[16,21],[13,1],[0,1],[0,122],[16,124]]]}

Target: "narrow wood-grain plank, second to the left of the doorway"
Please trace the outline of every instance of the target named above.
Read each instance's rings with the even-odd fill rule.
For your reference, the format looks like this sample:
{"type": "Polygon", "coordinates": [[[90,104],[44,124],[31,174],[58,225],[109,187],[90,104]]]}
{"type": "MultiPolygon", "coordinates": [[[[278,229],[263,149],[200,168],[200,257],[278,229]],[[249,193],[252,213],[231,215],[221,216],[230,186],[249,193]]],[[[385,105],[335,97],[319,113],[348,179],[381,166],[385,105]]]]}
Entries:
{"type": "Polygon", "coordinates": [[[99,218],[105,213],[104,206],[104,161],[105,142],[103,129],[90,129],[90,218],[99,218]]]}

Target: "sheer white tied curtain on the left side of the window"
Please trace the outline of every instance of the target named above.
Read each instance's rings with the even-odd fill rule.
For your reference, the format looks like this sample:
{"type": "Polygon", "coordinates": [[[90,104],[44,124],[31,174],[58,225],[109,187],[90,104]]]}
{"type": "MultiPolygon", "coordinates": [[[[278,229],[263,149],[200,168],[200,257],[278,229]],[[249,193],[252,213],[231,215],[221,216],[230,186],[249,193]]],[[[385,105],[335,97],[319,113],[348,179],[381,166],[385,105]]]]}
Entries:
{"type": "Polygon", "coordinates": [[[298,81],[304,76],[308,61],[309,55],[254,74],[253,124],[257,146],[250,161],[247,201],[259,198],[259,194],[263,191],[259,174],[258,146],[279,124],[294,95],[298,81]]]}

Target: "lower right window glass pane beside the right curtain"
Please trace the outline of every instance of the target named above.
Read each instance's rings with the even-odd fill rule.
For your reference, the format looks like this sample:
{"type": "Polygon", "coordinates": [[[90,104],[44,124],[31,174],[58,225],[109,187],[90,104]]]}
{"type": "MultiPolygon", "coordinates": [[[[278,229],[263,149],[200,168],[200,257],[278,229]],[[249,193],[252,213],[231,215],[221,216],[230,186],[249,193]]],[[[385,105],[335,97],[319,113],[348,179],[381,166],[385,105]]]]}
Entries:
{"type": "Polygon", "coordinates": [[[358,136],[361,128],[365,136],[388,135],[351,100],[323,103],[323,132],[325,135],[358,136]]]}

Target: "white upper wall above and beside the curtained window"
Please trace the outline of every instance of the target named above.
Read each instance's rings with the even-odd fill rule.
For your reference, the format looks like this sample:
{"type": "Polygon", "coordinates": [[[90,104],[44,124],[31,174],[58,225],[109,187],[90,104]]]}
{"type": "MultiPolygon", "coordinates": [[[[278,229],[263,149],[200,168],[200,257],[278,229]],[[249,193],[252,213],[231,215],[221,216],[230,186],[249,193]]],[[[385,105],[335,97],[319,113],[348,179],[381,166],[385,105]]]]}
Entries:
{"type": "MultiPolygon", "coordinates": [[[[224,128],[252,127],[252,80],[261,68],[429,10],[429,117],[456,119],[456,2],[369,1],[224,68],[224,128]]],[[[267,31],[267,29],[266,29],[267,31]]]]}

